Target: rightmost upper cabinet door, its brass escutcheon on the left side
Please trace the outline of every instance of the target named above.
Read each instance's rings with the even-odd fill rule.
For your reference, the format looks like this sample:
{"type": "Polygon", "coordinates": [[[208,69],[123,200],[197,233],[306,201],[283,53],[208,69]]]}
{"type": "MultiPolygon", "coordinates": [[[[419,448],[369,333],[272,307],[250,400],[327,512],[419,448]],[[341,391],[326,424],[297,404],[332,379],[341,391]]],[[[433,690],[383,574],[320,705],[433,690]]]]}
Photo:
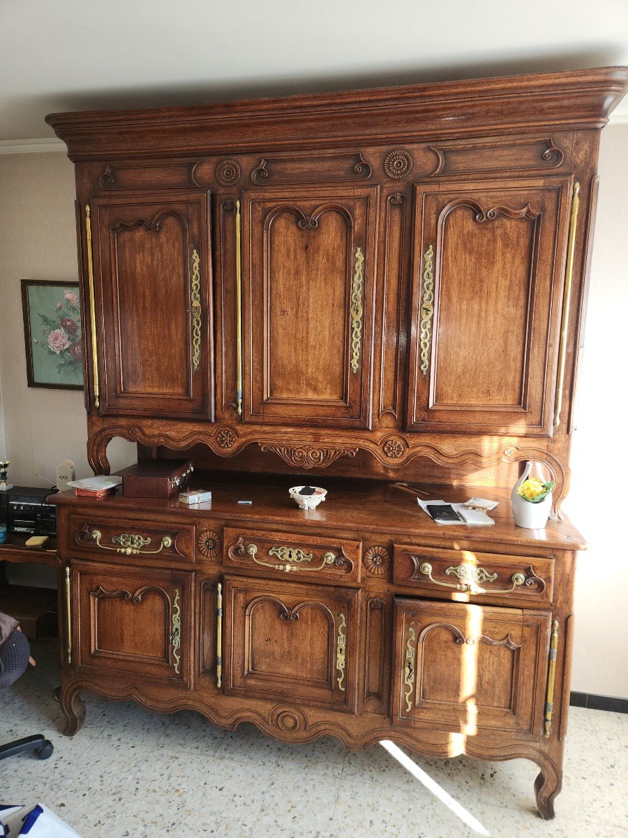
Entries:
{"type": "Polygon", "coordinates": [[[415,187],[409,430],[551,435],[570,187],[415,187]]]}

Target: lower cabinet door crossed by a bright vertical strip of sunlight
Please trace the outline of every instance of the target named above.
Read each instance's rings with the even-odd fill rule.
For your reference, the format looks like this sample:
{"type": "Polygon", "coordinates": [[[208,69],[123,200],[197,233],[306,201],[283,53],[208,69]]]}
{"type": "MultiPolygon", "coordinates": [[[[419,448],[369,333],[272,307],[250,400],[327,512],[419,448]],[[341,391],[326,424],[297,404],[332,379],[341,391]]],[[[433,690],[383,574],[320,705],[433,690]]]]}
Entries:
{"type": "Polygon", "coordinates": [[[394,723],[538,737],[551,615],[395,599],[394,723]]]}

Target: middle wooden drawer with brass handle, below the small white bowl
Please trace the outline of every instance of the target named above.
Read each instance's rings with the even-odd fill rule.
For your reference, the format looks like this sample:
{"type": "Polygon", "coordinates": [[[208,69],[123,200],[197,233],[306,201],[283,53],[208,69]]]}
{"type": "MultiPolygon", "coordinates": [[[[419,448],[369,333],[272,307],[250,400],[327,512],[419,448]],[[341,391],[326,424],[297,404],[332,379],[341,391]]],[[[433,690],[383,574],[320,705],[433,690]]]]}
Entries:
{"type": "Polygon", "coordinates": [[[329,535],[224,528],[224,563],[322,582],[359,582],[362,541],[329,535]]]}

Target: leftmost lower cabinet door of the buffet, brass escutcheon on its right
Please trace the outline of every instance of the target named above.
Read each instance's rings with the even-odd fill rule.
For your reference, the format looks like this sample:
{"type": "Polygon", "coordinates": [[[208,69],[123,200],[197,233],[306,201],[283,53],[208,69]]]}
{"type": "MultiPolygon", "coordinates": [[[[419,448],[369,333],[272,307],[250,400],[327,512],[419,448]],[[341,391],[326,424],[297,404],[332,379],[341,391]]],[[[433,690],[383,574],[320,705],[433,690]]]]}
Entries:
{"type": "Polygon", "coordinates": [[[77,669],[191,685],[192,574],[75,562],[77,669]]]}

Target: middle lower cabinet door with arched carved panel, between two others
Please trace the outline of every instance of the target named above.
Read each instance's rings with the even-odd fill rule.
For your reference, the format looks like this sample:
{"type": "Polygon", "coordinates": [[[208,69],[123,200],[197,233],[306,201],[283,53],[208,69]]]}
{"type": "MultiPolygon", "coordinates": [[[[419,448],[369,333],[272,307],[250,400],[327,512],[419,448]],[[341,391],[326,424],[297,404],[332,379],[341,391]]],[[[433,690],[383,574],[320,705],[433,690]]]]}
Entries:
{"type": "Polygon", "coordinates": [[[358,592],[225,579],[225,692],[355,711],[358,592]]]}

